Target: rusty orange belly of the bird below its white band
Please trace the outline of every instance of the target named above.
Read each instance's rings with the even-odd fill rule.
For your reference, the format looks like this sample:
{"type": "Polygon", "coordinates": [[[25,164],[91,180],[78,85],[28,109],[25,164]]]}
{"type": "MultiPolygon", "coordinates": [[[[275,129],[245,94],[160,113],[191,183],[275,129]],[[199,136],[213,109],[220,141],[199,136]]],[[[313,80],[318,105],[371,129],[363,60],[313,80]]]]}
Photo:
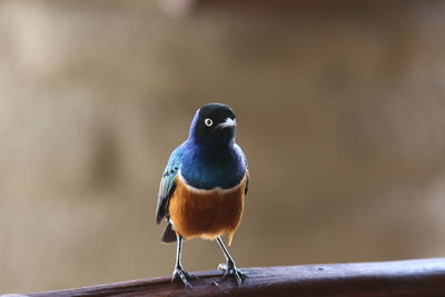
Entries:
{"type": "Polygon", "coordinates": [[[247,174],[233,189],[198,190],[186,185],[178,175],[169,202],[175,230],[186,239],[215,239],[228,234],[230,242],[241,221],[246,180],[247,174]]]}

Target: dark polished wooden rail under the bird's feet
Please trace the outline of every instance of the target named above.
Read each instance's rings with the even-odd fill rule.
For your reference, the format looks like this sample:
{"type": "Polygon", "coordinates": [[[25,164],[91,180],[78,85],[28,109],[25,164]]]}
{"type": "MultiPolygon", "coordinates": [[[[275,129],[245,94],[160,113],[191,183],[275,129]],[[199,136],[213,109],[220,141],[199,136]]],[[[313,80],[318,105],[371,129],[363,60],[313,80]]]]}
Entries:
{"type": "Polygon", "coordinates": [[[36,293],[29,297],[71,296],[445,296],[445,258],[380,263],[244,268],[249,278],[214,285],[220,271],[195,273],[194,289],[155,277],[77,289],[36,293]]]}

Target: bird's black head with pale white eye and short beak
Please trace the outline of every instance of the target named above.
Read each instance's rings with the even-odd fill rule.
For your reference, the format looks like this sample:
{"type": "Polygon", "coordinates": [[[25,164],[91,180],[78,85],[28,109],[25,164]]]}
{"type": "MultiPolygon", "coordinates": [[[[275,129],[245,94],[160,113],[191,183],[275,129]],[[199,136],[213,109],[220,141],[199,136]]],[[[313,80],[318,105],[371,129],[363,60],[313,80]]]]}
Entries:
{"type": "Polygon", "coordinates": [[[228,145],[235,140],[236,119],[230,107],[209,103],[196,111],[190,139],[200,145],[228,145]]]}

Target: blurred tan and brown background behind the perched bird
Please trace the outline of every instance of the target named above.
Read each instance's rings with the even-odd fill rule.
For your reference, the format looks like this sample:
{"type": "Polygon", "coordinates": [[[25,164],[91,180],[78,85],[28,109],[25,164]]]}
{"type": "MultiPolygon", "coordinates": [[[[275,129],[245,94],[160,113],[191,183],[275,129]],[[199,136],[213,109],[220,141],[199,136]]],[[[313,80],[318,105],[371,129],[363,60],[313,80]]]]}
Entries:
{"type": "Polygon", "coordinates": [[[1,0],[0,293],[170,275],[159,180],[211,101],[250,165],[238,266],[443,256],[444,30],[443,1],[1,0]]]}

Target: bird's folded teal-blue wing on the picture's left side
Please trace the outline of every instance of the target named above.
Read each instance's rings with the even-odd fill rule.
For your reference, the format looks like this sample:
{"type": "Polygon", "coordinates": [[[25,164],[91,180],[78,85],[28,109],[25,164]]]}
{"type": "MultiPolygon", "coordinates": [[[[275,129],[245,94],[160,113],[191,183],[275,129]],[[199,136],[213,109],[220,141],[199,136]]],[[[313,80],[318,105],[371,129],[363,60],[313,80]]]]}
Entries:
{"type": "Polygon", "coordinates": [[[164,170],[158,192],[158,205],[156,207],[157,224],[159,224],[164,217],[168,216],[168,202],[176,188],[176,176],[181,166],[182,151],[182,146],[175,149],[164,170]]]}

